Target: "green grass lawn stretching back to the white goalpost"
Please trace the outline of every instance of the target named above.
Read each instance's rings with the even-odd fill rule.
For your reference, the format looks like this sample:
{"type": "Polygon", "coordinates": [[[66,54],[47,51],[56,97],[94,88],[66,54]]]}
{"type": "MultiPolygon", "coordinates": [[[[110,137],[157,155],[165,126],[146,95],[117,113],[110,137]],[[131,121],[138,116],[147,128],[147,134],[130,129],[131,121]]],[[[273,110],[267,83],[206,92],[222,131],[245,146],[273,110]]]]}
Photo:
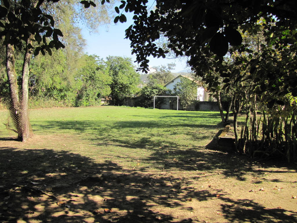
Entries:
{"type": "MultiPolygon", "coordinates": [[[[7,120],[1,111],[1,122],[7,120]]],[[[95,160],[120,162],[124,167],[157,169],[171,167],[175,159],[193,156],[189,150],[205,147],[222,128],[218,112],[188,112],[137,109],[115,106],[52,108],[30,111],[30,121],[37,136],[59,135],[56,147],[83,153],[95,160]],[[76,147],[73,140],[83,140],[76,147]],[[79,151],[80,150],[80,151],[79,151]]],[[[7,137],[2,125],[0,134],[7,137]]],[[[48,142],[40,142],[44,147],[48,142]]]]}

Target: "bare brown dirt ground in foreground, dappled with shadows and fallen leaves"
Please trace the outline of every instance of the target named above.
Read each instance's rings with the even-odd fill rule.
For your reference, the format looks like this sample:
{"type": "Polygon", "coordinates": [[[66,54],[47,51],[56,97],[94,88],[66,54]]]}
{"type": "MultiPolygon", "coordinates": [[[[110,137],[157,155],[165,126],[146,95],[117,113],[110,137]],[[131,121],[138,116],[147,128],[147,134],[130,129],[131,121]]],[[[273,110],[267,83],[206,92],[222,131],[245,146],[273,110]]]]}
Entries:
{"type": "Polygon", "coordinates": [[[0,139],[0,222],[297,222],[296,163],[258,163],[211,142],[161,170],[128,169],[37,147],[51,140],[72,139],[0,139]]]}

